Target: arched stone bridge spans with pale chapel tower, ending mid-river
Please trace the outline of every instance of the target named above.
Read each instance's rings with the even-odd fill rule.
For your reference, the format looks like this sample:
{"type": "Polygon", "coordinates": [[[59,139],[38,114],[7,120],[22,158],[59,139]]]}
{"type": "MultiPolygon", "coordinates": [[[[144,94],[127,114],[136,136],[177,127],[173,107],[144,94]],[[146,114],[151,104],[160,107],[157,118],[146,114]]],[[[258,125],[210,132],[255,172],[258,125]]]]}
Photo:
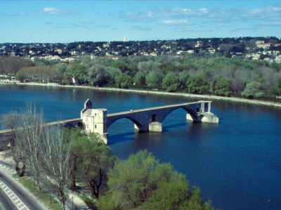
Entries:
{"type": "Polygon", "coordinates": [[[118,119],[126,118],[131,120],[135,125],[135,129],[141,132],[162,132],[162,122],[166,116],[180,108],[188,112],[187,119],[193,122],[218,123],[218,117],[211,113],[211,101],[203,100],[107,114],[105,109],[93,109],[91,100],[88,99],[84,104],[84,110],[81,111],[81,119],[86,132],[99,133],[107,143],[107,128],[118,119]]]}

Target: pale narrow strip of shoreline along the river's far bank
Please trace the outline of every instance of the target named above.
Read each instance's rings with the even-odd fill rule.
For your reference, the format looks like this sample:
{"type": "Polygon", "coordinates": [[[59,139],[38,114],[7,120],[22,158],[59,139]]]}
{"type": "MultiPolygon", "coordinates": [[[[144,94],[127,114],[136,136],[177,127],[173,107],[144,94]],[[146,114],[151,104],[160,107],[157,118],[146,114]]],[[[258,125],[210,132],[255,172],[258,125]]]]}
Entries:
{"type": "MultiPolygon", "coordinates": [[[[132,90],[132,89],[123,89],[123,88],[98,88],[98,87],[91,87],[91,86],[74,86],[74,85],[59,85],[59,84],[44,84],[44,83],[37,83],[37,82],[29,82],[29,83],[15,83],[16,85],[30,85],[30,86],[53,86],[53,87],[65,87],[65,88],[86,88],[86,89],[93,89],[98,91],[119,91],[119,92],[129,92],[129,93],[149,93],[149,94],[159,94],[159,95],[166,95],[166,96],[183,96],[188,98],[204,98],[204,99],[214,99],[214,100],[227,100],[231,102],[240,102],[240,103],[249,103],[253,105],[266,105],[270,107],[277,107],[281,108],[281,103],[273,102],[273,101],[264,101],[264,100],[250,100],[245,98],[230,98],[230,97],[223,97],[223,96],[212,96],[212,95],[196,95],[192,93],[169,93],[163,91],[141,91],[141,90],[132,90]]],[[[9,84],[13,85],[13,84],[9,84]]]]}

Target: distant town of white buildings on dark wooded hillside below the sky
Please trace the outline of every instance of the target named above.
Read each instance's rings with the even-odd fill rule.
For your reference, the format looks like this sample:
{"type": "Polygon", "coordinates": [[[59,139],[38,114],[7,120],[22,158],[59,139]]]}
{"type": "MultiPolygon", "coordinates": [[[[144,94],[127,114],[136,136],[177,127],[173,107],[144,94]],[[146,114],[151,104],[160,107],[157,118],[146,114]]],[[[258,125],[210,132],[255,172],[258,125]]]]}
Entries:
{"type": "Polygon", "coordinates": [[[158,41],[75,41],[63,43],[5,43],[0,44],[0,55],[33,60],[44,58],[65,62],[89,55],[118,59],[129,55],[169,55],[186,58],[235,56],[249,60],[281,63],[281,40],[277,37],[239,37],[209,39],[176,39],[158,41]]]}

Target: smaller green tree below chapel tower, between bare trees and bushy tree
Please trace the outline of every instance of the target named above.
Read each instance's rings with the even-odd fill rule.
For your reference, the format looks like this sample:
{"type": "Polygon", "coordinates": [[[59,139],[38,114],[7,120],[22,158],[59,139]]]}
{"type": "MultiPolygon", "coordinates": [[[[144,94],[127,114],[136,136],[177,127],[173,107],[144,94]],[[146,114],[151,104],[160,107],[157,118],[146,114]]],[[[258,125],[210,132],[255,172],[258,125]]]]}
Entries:
{"type": "Polygon", "coordinates": [[[86,181],[92,196],[98,199],[116,158],[96,133],[86,136],[81,131],[74,131],[71,136],[75,176],[79,181],[86,181]]]}

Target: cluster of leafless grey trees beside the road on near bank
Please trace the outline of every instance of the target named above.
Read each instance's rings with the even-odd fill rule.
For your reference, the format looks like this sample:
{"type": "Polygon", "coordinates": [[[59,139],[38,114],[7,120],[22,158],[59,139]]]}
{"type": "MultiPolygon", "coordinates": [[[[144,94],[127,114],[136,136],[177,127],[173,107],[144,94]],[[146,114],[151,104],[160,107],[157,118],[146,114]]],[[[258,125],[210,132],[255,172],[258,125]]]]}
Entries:
{"type": "Polygon", "coordinates": [[[50,190],[65,209],[67,185],[70,182],[72,160],[70,143],[65,140],[60,127],[50,129],[44,125],[43,111],[37,112],[35,105],[27,104],[21,114],[11,112],[1,118],[1,124],[11,129],[11,147],[19,176],[25,172],[25,164],[37,182],[50,190]],[[23,163],[20,171],[18,165],[23,163]]]}

